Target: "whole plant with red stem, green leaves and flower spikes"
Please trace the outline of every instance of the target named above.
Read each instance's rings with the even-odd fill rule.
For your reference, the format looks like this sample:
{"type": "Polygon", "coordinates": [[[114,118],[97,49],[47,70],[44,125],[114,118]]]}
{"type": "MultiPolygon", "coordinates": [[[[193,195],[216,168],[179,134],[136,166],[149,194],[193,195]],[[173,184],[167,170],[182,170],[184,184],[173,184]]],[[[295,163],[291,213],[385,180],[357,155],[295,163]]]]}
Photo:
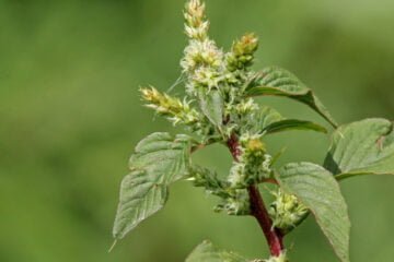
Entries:
{"type": "MultiPolygon", "coordinates": [[[[283,237],[313,213],[341,262],[349,262],[350,222],[337,180],[363,174],[393,174],[393,123],[368,119],[337,128],[328,110],[298,78],[279,68],[253,72],[258,39],[246,34],[224,52],[208,36],[205,4],[189,0],[185,10],[189,38],[181,61],[186,95],[183,99],[142,88],[148,107],[192,136],[153,133],[143,139],[130,158],[131,174],[121,183],[114,237],[123,238],[141,221],[163,207],[167,187],[183,178],[204,187],[221,202],[216,211],[254,216],[270,249],[269,262],[288,261],[283,237]],[[334,128],[333,144],[324,167],[290,163],[277,169],[266,147],[265,134],[289,130],[327,133],[314,122],[286,119],[278,111],[254,102],[255,96],[279,96],[303,103],[334,128]],[[183,100],[183,102],[182,102],[183,100]],[[190,153],[213,143],[225,145],[233,156],[228,176],[192,164],[190,153]],[[268,212],[258,184],[273,182],[278,193],[268,212]]],[[[186,260],[245,261],[204,242],[186,260]]]]}

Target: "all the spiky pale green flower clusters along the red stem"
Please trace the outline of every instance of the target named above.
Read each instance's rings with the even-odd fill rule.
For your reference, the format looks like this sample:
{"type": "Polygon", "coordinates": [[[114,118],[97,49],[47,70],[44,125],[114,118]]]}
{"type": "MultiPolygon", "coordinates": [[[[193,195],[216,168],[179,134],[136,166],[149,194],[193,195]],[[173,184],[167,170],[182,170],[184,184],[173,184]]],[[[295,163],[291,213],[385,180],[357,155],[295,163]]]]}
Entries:
{"type": "MultiPolygon", "coordinates": [[[[198,134],[201,145],[227,143],[232,136],[239,138],[236,150],[240,154],[225,179],[208,169],[194,167],[190,180],[196,187],[205,187],[209,193],[222,199],[216,211],[246,215],[251,213],[246,188],[273,177],[273,157],[263,142],[264,132],[251,129],[260,111],[259,105],[243,95],[248,81],[256,75],[251,66],[258,39],[255,34],[247,33],[233,43],[229,52],[224,52],[208,36],[205,3],[190,0],[184,16],[188,37],[181,60],[185,98],[160,93],[154,87],[141,88],[142,98],[159,115],[198,134]],[[196,104],[199,107],[194,107],[196,104]]],[[[281,191],[274,195],[276,200],[270,209],[273,224],[287,231],[304,218],[306,209],[298,203],[296,196],[281,191]]]]}

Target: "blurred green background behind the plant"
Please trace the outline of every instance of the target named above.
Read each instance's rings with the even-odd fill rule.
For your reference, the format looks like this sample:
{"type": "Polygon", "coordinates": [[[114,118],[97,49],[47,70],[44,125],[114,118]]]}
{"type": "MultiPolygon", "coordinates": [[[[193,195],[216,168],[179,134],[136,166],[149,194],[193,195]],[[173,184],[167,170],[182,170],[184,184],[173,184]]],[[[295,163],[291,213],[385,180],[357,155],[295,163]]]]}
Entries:
{"type": "MultiPolygon", "coordinates": [[[[183,261],[202,239],[267,258],[252,218],[215,214],[213,198],[189,182],[166,209],[112,253],[118,186],[134,145],[174,129],[141,107],[140,85],[161,91],[179,74],[183,0],[0,0],[0,261],[183,261]]],[[[224,48],[256,32],[255,68],[278,64],[314,88],[339,122],[394,118],[394,1],[208,0],[211,35],[224,48]]],[[[182,86],[175,93],[182,93],[182,86]]],[[[262,103],[322,121],[281,98],[262,103]]],[[[270,136],[281,163],[322,163],[328,138],[270,136]]],[[[195,160],[227,174],[213,146],[195,160]]],[[[394,261],[394,178],[345,181],[355,262],[394,261]]],[[[336,261],[311,218],[287,239],[291,261],[336,261]]]]}

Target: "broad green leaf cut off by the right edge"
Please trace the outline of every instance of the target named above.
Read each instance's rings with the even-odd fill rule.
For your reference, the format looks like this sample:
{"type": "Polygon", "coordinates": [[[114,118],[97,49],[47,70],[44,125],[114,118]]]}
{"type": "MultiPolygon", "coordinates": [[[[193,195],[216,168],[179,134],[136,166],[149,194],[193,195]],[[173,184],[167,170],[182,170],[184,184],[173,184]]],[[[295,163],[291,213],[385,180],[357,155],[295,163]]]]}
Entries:
{"type": "Polygon", "coordinates": [[[359,175],[394,175],[393,122],[371,118],[339,127],[324,162],[344,179],[359,175]]]}

